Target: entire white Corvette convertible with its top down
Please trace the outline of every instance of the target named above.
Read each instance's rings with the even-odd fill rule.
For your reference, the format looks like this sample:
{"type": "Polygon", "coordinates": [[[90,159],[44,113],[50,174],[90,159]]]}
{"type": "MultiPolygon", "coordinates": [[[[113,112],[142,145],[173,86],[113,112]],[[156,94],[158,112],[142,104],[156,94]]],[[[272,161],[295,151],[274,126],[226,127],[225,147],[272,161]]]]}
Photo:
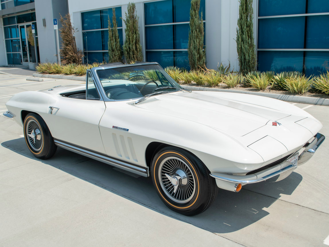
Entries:
{"type": "Polygon", "coordinates": [[[147,177],[185,215],[206,210],[218,187],[286,178],[324,140],[300,108],[261,96],[191,92],[157,63],[87,70],[86,85],[14,95],[5,116],[40,159],[57,146],[147,177]]]}

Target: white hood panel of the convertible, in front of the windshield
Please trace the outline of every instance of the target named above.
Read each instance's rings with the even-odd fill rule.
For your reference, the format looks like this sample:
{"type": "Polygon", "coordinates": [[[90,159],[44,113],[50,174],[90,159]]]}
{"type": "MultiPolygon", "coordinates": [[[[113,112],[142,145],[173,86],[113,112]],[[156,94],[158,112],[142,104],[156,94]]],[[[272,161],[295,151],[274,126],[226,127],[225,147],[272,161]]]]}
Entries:
{"type": "Polygon", "coordinates": [[[210,126],[243,136],[269,121],[291,114],[236,100],[201,93],[170,93],[157,96],[157,101],[137,105],[140,108],[210,126]]]}

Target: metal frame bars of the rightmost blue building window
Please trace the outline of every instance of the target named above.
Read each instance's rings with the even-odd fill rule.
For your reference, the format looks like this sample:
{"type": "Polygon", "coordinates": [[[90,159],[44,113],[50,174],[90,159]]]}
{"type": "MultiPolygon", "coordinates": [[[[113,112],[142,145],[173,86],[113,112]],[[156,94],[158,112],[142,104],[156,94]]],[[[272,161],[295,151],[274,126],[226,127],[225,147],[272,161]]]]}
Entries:
{"type": "MultiPolygon", "coordinates": [[[[258,48],[258,20],[259,19],[269,19],[269,18],[285,18],[285,17],[300,17],[304,16],[305,18],[305,23],[307,21],[307,16],[319,16],[319,15],[329,15],[329,12],[323,12],[323,13],[309,13],[309,14],[285,14],[285,15],[268,15],[268,16],[259,16],[259,0],[256,2],[257,6],[257,14],[256,14],[256,61],[257,61],[257,70],[258,70],[258,51],[304,51],[303,54],[303,71],[305,67],[305,57],[306,51],[329,51],[329,49],[316,49],[316,48],[258,48]]],[[[305,7],[307,8],[307,2],[305,7]]],[[[305,34],[306,35],[306,32],[305,34]]],[[[306,38],[306,36],[305,36],[306,38]]],[[[304,41],[304,46],[305,46],[305,41],[304,41]]]]}

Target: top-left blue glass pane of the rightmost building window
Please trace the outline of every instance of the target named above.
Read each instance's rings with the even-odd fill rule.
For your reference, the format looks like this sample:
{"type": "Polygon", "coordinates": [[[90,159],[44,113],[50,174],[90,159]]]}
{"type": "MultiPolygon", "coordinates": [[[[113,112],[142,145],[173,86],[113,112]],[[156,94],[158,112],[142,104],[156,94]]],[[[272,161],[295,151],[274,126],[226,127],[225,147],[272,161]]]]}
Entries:
{"type": "Polygon", "coordinates": [[[306,0],[259,0],[258,16],[305,14],[306,0]]]}

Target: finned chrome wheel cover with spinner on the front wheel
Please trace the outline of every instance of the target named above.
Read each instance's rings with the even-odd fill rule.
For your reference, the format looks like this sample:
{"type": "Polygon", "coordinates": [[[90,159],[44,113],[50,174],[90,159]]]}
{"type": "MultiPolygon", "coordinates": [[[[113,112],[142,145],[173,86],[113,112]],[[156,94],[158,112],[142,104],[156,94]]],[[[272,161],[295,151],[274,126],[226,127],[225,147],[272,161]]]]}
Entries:
{"type": "Polygon", "coordinates": [[[177,157],[165,158],[159,167],[164,193],[176,203],[189,202],[195,193],[195,178],[190,167],[177,157]]]}

